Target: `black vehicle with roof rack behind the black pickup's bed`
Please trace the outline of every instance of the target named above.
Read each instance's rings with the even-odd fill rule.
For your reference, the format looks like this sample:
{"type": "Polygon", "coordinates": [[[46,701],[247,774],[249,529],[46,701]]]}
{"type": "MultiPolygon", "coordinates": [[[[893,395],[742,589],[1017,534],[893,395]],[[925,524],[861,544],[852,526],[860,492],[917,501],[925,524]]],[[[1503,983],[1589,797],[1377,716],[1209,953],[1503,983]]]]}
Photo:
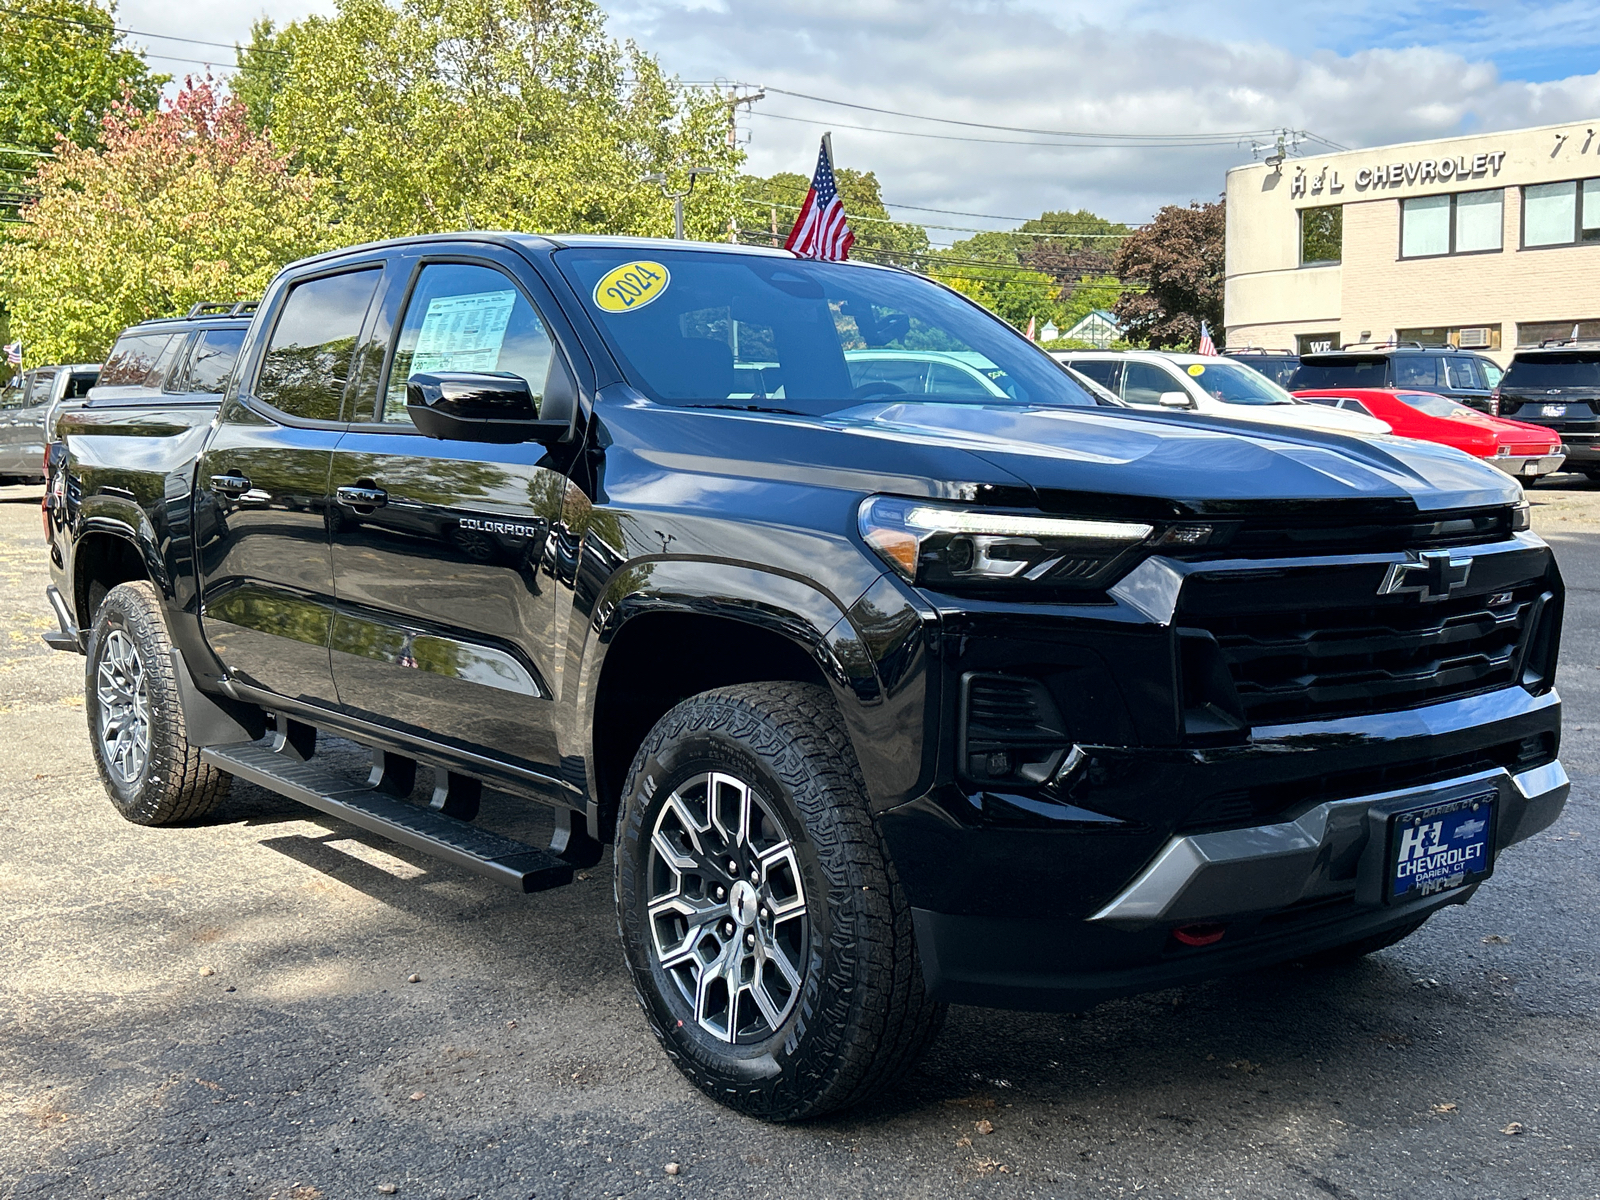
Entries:
{"type": "Polygon", "coordinates": [[[234,374],[254,301],[195,304],[182,317],[130,325],[106,355],[90,405],[141,397],[214,398],[234,374]]]}

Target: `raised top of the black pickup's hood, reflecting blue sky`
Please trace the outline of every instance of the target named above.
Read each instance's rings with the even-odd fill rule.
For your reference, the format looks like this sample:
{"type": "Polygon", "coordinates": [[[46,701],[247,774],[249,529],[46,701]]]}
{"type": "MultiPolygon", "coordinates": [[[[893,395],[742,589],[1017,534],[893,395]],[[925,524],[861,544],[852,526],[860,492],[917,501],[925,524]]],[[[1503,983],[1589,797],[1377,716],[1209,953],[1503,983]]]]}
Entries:
{"type": "Polygon", "coordinates": [[[1192,512],[1406,499],[1442,510],[1512,504],[1522,494],[1502,472],[1450,446],[1194,413],[874,403],[827,422],[858,437],[965,450],[1040,494],[1147,496],[1192,512]]]}

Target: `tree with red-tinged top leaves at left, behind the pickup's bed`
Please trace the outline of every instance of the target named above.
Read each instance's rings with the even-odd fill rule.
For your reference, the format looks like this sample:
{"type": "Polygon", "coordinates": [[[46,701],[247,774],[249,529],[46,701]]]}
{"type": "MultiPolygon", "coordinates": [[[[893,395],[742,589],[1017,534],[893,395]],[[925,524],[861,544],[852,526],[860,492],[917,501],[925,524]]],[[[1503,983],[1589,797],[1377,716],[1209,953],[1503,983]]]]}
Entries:
{"type": "Polygon", "coordinates": [[[104,147],[64,144],[0,245],[11,336],[32,362],[98,360],[133,322],[253,299],[346,240],[330,190],[293,173],[210,82],[157,112],[115,104],[104,147]]]}

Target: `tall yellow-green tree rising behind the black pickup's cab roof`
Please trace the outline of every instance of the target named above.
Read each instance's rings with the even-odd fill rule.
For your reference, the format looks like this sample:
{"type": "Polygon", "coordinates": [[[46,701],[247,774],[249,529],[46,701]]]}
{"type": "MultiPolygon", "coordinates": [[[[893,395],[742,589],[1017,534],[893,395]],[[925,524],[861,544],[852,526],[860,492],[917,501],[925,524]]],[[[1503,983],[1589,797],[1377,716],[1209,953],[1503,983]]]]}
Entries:
{"type": "Polygon", "coordinates": [[[237,94],[333,181],[342,237],[461,227],[670,234],[646,182],[701,176],[691,237],[726,237],[728,106],[605,32],[592,0],[338,0],[245,48],[237,94]]]}

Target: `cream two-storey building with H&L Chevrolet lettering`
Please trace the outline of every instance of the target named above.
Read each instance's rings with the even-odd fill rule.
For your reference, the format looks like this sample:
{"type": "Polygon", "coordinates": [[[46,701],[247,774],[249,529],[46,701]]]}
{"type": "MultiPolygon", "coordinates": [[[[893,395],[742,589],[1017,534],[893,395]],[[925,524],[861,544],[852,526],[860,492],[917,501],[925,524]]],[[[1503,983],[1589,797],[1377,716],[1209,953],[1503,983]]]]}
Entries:
{"type": "Polygon", "coordinates": [[[1230,347],[1600,338],[1600,118],[1227,173],[1230,347]]]}

